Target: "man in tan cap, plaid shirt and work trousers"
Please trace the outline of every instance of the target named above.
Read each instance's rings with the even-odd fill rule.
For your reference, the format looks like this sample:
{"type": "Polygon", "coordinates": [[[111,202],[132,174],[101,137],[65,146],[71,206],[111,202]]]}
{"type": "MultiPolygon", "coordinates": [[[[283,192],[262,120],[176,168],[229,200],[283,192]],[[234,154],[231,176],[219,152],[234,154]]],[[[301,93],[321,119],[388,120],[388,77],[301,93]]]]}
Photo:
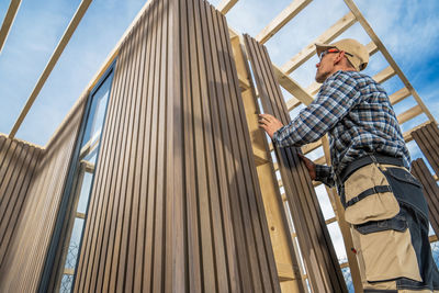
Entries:
{"type": "Polygon", "coordinates": [[[439,290],[427,203],[407,170],[410,157],[386,92],[360,72],[369,61],[367,48],[341,40],[316,44],[316,50],[315,79],[323,84],[314,102],[285,126],[260,114],[260,127],[279,147],[328,134],[331,167],[301,158],[313,180],[339,191],[364,292],[439,290]]]}

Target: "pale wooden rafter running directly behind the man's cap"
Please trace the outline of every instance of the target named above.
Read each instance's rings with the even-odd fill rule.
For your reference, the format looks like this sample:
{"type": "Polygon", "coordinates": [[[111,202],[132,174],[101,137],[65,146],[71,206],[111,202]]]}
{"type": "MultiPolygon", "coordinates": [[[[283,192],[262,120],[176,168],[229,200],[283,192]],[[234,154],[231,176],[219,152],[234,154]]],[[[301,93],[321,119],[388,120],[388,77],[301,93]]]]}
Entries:
{"type": "Polygon", "coordinates": [[[329,43],[356,23],[356,16],[349,12],[318,36],[314,42],[303,48],[293,58],[282,66],[282,71],[290,75],[315,54],[315,43],[329,43]]]}

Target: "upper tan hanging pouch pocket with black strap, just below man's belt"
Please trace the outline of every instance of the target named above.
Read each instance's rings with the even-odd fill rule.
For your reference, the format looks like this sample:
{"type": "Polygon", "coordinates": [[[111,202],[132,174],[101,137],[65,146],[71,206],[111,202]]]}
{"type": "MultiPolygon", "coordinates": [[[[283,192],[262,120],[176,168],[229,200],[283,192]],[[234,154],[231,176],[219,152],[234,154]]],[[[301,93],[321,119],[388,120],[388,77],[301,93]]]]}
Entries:
{"type": "Polygon", "coordinates": [[[399,204],[390,191],[387,178],[376,165],[358,169],[345,182],[345,218],[353,225],[392,218],[399,204]]]}

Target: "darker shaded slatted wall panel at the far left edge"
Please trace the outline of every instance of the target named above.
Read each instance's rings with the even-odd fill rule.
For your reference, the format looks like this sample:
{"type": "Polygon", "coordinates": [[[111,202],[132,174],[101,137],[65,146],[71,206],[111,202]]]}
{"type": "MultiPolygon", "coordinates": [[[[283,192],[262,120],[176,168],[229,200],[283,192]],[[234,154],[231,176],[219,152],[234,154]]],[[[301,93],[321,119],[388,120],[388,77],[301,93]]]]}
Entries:
{"type": "Polygon", "coordinates": [[[0,267],[16,230],[41,148],[0,136],[0,267]]]}

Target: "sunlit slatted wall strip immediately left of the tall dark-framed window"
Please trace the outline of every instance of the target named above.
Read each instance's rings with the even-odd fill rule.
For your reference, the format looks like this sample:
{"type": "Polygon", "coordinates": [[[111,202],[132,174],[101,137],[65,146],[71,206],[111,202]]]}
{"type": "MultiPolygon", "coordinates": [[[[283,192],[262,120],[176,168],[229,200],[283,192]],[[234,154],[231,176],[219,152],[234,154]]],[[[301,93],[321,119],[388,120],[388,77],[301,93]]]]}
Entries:
{"type": "Polygon", "coordinates": [[[38,288],[82,111],[83,103],[79,103],[38,158],[0,269],[0,292],[35,292],[38,288]]]}

